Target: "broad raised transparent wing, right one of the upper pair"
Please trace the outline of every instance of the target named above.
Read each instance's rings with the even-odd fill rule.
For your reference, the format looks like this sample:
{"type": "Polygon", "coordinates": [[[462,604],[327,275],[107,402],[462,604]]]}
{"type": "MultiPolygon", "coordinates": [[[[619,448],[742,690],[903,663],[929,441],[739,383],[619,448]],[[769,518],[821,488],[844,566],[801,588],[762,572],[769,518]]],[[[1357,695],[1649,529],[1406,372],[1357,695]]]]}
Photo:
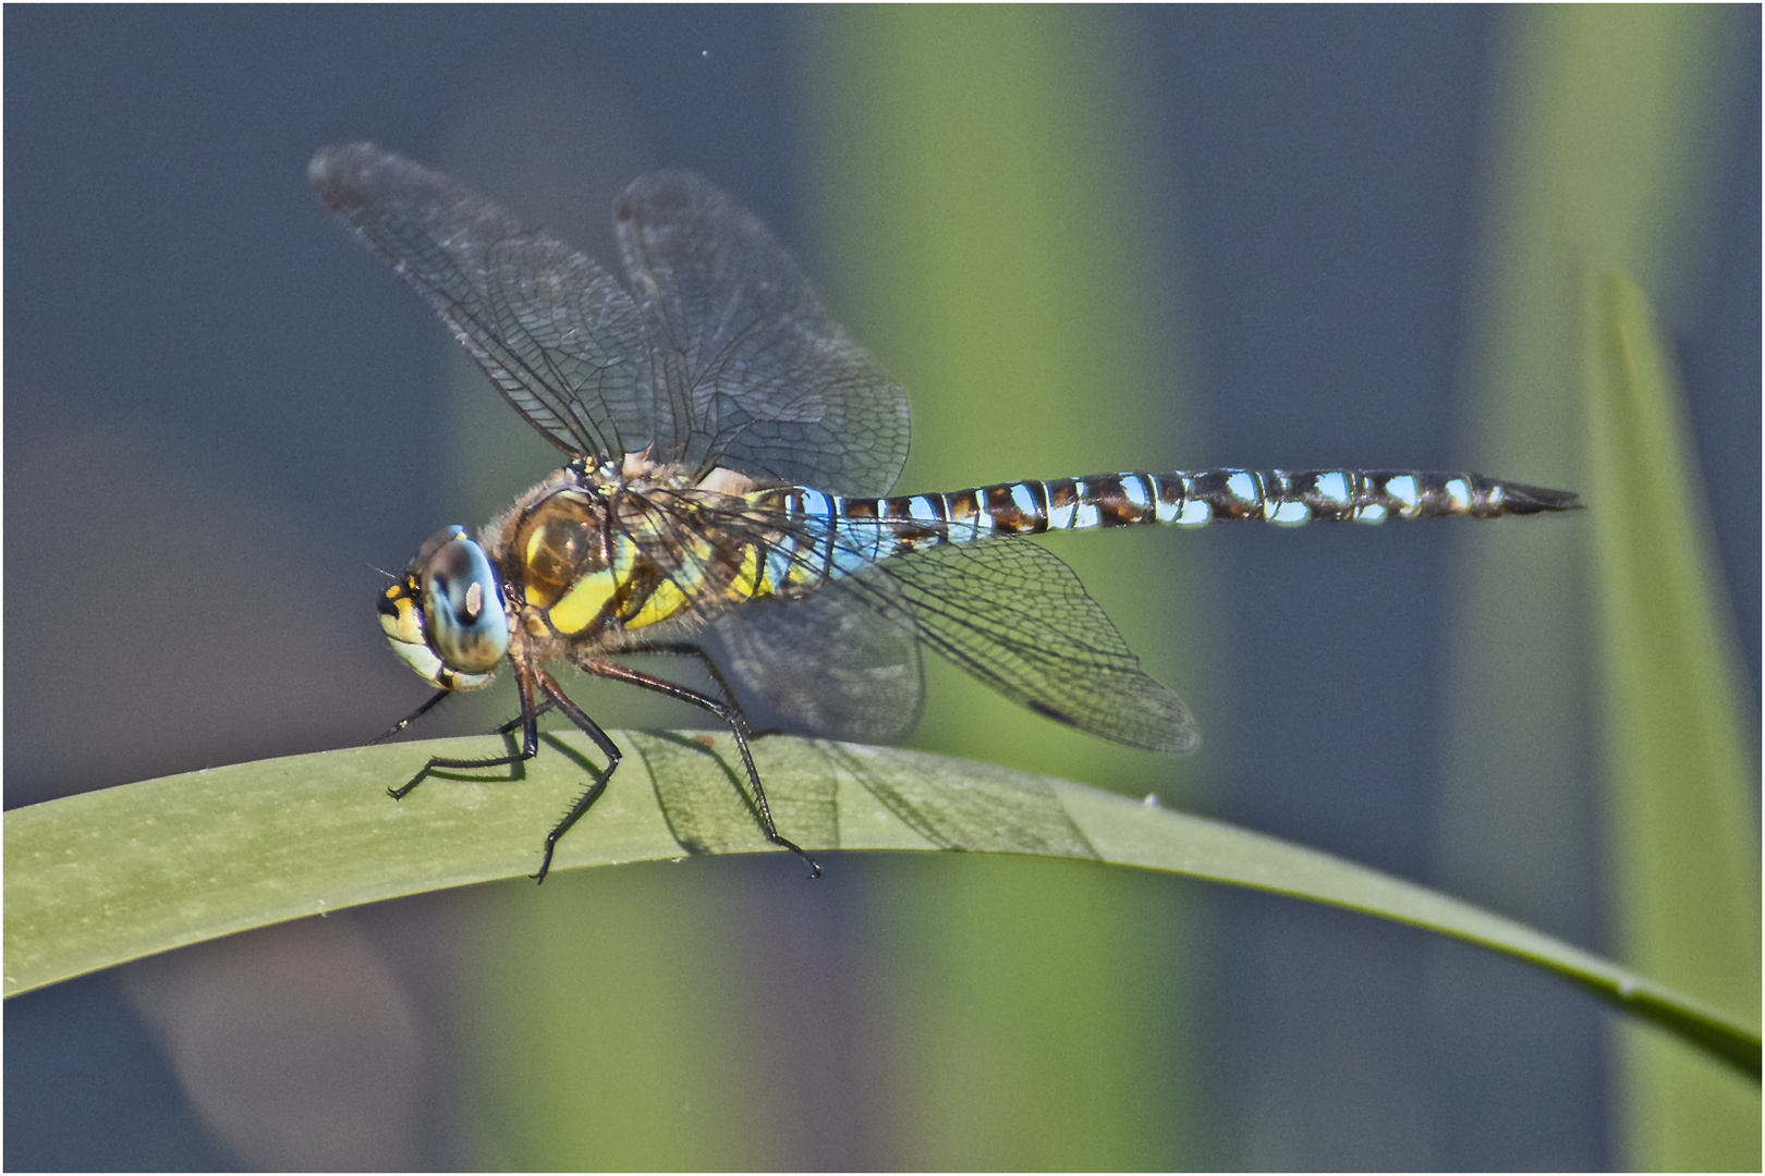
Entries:
{"type": "Polygon", "coordinates": [[[658,460],[882,495],[907,397],[822,310],[754,213],[687,171],[625,189],[614,227],[655,342],[658,460]]]}

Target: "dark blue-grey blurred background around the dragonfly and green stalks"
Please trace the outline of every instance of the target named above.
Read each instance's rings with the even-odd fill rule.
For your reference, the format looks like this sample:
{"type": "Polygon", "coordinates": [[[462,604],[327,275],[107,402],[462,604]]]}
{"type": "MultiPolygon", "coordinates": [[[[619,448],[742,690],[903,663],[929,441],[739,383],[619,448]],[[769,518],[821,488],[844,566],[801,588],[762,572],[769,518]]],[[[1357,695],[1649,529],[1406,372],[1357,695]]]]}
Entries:
{"type": "MultiPolygon", "coordinates": [[[[471,409],[441,391],[455,360],[429,310],[309,194],[305,162],[325,143],[374,139],[431,162],[602,257],[628,178],[697,169],[791,245],[909,397],[955,395],[916,384],[911,344],[867,321],[865,293],[837,272],[838,229],[815,206],[842,182],[826,175],[838,152],[814,90],[826,62],[810,60],[826,14],[7,7],[4,19],[7,808],[362,744],[424,696],[387,654],[371,599],[376,568],[402,566],[445,522],[482,520],[455,476],[471,409]]],[[[1135,409],[1121,457],[995,469],[992,439],[943,437],[973,444],[974,462],[941,467],[935,488],[1130,464],[1463,467],[1454,397],[1507,11],[1110,19],[1133,49],[1121,63],[1140,95],[1133,162],[1165,201],[1140,263],[1175,293],[1145,317],[1181,340],[1168,379],[1181,368],[1184,386],[1130,390],[1153,409],[1135,409]],[[1158,411],[1167,397],[1183,420],[1158,411]]],[[[1760,18],[1726,19],[1714,197],[1661,310],[1756,698],[1760,18]]],[[[960,390],[1006,418],[1011,393],[960,390]]],[[[1105,393],[1075,388],[1073,413],[1105,393]]],[[[505,414],[489,390],[484,409],[505,414]]],[[[519,464],[475,473],[501,497],[552,462],[507,416],[519,464]]],[[[1576,471],[1486,473],[1550,485],[1576,471]]],[[[1154,536],[1218,626],[1197,638],[1205,663],[1160,666],[1200,716],[1209,758],[1179,770],[1145,756],[1133,783],[1188,781],[1165,800],[1447,885],[1428,783],[1451,693],[1437,682],[1456,541],[1453,527],[1154,536]],[[1366,695],[1377,709],[1343,705],[1366,695]]],[[[1115,610],[1144,584],[1093,587],[1115,610]]],[[[607,705],[609,725],[625,721],[607,705]]],[[[1555,913],[1507,913],[1601,949],[1583,808],[1587,829],[1564,848],[1574,892],[1555,913]]],[[[782,1077],[748,1081],[807,1107],[752,1125],[764,1144],[708,1150],[706,1165],[911,1162],[893,1143],[911,1127],[882,1104],[911,1086],[913,1060],[895,1061],[907,1079],[881,1076],[863,1046],[884,1033],[877,1001],[911,998],[867,984],[895,966],[877,957],[891,942],[877,927],[948,913],[911,901],[913,871],[946,864],[833,866],[814,889],[775,859],[620,871],[734,912],[748,952],[718,957],[727,971],[695,1000],[759,991],[782,1077]]],[[[590,882],[544,896],[595,904],[632,889],[590,882]]],[[[1103,1165],[1615,1164],[1608,1021],[1580,993],[1341,912],[1168,878],[1133,887],[1135,910],[1168,901],[1186,927],[1149,927],[1168,956],[1140,957],[1131,979],[1147,1035],[1181,1021],[1181,1046],[1126,1079],[1153,1143],[1103,1165]],[[1181,984],[1160,987],[1167,971],[1181,984]],[[1497,1000],[1451,996],[1454,977],[1490,973],[1497,1000]],[[1467,1047],[1488,1040],[1495,1060],[1467,1047]]],[[[485,1030],[461,1028],[477,1016],[457,975],[471,901],[344,912],[7,1001],[7,1167],[496,1164],[507,1153],[484,1143],[496,1123],[477,1090],[485,1030]]],[[[581,984],[582,1007],[616,1000],[595,973],[581,984]]],[[[1043,1058],[1054,1072],[1059,1049],[1043,1058]]],[[[642,1165],[584,1160],[623,1162],[642,1165]]]]}

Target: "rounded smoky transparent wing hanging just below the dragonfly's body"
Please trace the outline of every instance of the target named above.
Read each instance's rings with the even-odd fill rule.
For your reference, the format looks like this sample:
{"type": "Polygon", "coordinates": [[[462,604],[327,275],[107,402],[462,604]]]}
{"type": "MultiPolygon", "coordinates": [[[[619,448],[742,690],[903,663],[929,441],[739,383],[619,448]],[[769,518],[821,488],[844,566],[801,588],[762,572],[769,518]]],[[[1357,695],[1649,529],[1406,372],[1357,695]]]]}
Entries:
{"type": "Polygon", "coordinates": [[[891,742],[925,703],[913,615],[886,580],[854,587],[838,580],[803,599],[720,614],[711,626],[724,645],[718,665],[817,735],[891,742]]]}

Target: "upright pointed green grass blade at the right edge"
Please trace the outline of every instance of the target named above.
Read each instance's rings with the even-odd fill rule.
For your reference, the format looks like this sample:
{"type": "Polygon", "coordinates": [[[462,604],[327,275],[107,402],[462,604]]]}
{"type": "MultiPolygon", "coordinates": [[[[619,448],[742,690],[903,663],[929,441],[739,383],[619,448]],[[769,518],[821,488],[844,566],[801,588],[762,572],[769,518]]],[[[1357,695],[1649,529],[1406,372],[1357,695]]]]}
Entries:
{"type": "MultiPolygon", "coordinates": [[[[1585,386],[1613,908],[1627,959],[1760,1007],[1754,749],[1679,381],[1626,277],[1587,279],[1585,386]]],[[[1647,1165],[1758,1164],[1760,1104],[1656,1035],[1626,1040],[1647,1165]],[[1670,1157],[1670,1160],[1668,1160],[1670,1157]]]]}

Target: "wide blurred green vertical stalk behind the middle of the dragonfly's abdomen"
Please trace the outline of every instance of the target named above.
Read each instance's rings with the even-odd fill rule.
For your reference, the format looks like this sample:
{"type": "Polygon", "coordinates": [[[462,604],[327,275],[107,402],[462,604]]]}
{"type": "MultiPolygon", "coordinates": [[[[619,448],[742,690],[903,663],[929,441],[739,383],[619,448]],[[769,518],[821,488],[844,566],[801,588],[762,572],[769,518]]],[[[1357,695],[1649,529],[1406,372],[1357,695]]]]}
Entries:
{"type": "MultiPolygon", "coordinates": [[[[1170,279],[1145,249],[1153,196],[1130,146],[1142,100],[1123,16],[837,7],[801,19],[807,206],[835,259],[822,268],[838,277],[826,291],[835,316],[907,386],[902,488],[1165,460],[1144,421],[1175,416],[1154,391],[1177,383],[1158,342],[1170,279]]],[[[1168,612],[1154,621],[1153,594],[1131,589],[1161,577],[1160,596],[1181,598],[1167,566],[1147,545],[1075,540],[1057,552],[1156,675],[1175,640],[1168,612]]],[[[1170,788],[1172,762],[1057,728],[941,663],[928,686],[918,746],[1170,788]]],[[[1184,977],[1172,959],[1184,956],[1172,887],[1085,866],[948,860],[914,862],[891,890],[937,915],[882,949],[888,1165],[1193,1162],[1193,1100],[1174,1093],[1183,1014],[1168,1010],[1184,1007],[1184,977]]]]}

